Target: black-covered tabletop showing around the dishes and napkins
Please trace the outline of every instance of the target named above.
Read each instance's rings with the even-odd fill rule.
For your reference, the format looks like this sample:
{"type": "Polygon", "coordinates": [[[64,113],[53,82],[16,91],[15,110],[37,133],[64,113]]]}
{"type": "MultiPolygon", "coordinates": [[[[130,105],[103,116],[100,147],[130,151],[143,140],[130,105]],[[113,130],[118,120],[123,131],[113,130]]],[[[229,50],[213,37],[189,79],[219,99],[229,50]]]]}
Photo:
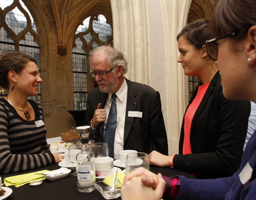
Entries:
{"type": "MultiPolygon", "coordinates": [[[[25,174],[29,172],[35,172],[39,170],[56,170],[59,169],[60,166],[58,164],[49,165],[46,167],[42,167],[40,169],[35,169],[27,172],[21,173],[13,173],[13,174],[4,174],[1,175],[2,180],[5,177],[10,177],[12,175],[19,175],[25,174]]],[[[157,167],[157,166],[150,166],[150,171],[154,173],[162,173],[163,175],[172,176],[172,175],[184,175],[188,178],[194,178],[190,174],[186,172],[182,172],[180,170],[172,169],[171,167],[157,167]]],[[[29,184],[21,186],[21,187],[14,187],[12,188],[12,194],[7,198],[7,200],[78,200],[78,199],[88,199],[88,200],[99,200],[104,199],[103,196],[98,192],[98,190],[94,190],[92,193],[79,193],[76,187],[76,180],[77,177],[69,174],[67,178],[60,179],[57,181],[50,182],[49,180],[43,180],[43,184],[40,187],[31,188],[29,184]]],[[[120,200],[121,197],[116,198],[120,200]]]]}

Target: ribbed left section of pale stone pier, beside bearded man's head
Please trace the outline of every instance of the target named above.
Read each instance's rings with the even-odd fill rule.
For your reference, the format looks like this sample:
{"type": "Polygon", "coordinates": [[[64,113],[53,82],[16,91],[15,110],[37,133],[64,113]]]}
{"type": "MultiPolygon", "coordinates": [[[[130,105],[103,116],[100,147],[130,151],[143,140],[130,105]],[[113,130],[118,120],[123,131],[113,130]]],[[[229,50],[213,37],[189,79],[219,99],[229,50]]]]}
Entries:
{"type": "Polygon", "coordinates": [[[115,48],[126,56],[132,81],[149,84],[147,12],[145,0],[110,0],[115,48]]]}

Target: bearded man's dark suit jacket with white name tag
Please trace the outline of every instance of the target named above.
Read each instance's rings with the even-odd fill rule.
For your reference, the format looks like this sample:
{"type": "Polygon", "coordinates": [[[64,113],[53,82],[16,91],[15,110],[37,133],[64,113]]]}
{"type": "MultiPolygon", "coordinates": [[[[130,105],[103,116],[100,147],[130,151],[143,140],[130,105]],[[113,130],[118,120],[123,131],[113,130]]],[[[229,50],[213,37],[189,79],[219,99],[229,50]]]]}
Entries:
{"type": "MultiPolygon", "coordinates": [[[[168,144],[159,92],[150,86],[127,82],[127,104],[124,125],[124,149],[133,149],[145,153],[152,150],[168,155],[168,144]],[[128,111],[141,111],[142,118],[128,117],[128,111]]],[[[98,103],[104,108],[107,93],[100,92],[99,87],[87,95],[85,124],[90,125],[98,103]]],[[[93,133],[93,131],[95,131],[93,133]]],[[[103,142],[103,123],[97,129],[95,142],[103,142]]]]}

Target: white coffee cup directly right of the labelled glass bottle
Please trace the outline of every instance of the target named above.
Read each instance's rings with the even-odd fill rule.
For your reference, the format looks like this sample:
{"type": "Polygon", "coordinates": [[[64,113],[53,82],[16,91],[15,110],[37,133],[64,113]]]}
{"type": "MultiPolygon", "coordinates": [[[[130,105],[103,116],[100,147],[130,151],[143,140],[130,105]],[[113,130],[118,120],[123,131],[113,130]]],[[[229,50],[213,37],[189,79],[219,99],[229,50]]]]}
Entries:
{"type": "Polygon", "coordinates": [[[107,177],[112,174],[114,159],[110,157],[95,158],[95,173],[98,177],[107,177]]]}

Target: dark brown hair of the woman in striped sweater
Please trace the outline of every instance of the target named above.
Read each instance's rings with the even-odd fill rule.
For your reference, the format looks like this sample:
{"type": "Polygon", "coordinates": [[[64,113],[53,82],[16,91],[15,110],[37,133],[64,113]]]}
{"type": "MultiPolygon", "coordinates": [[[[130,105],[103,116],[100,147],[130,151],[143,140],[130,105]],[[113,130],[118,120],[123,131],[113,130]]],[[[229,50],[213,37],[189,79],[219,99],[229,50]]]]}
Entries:
{"type": "Polygon", "coordinates": [[[6,52],[0,59],[0,86],[8,89],[8,73],[10,70],[20,73],[29,61],[35,62],[33,57],[21,52],[6,52]]]}

